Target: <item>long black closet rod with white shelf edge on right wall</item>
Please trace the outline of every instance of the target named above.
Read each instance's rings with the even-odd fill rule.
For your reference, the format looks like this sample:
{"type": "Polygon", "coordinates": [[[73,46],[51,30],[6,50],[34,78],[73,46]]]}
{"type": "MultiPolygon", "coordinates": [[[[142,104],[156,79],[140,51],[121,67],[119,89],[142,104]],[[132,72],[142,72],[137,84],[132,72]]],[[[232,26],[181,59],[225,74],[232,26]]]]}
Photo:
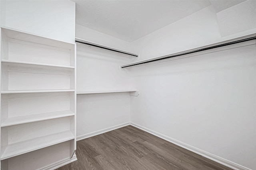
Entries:
{"type": "Polygon", "coordinates": [[[232,41],[232,42],[229,42],[229,43],[223,43],[223,44],[220,44],[220,45],[213,45],[213,46],[210,46],[210,47],[197,49],[197,50],[193,50],[193,51],[188,51],[188,52],[184,52],[184,53],[179,53],[179,54],[176,54],[176,55],[175,54],[174,55],[167,55],[166,57],[162,57],[162,58],[158,58],[158,59],[152,59],[152,60],[148,60],[148,61],[144,61],[144,62],[142,61],[141,63],[127,64],[127,65],[122,66],[121,68],[136,66],[136,65],[140,65],[140,64],[146,64],[146,63],[152,63],[154,61],[160,61],[160,60],[164,60],[164,59],[170,59],[172,57],[178,57],[178,56],[182,56],[182,55],[197,53],[197,52],[200,52],[200,51],[216,49],[216,48],[219,48],[219,47],[224,47],[224,46],[227,46],[227,45],[233,45],[233,44],[242,43],[242,42],[246,42],[246,41],[251,41],[251,40],[255,40],[255,39],[256,39],[256,36],[246,38],[246,39],[237,40],[237,41],[232,41]]]}

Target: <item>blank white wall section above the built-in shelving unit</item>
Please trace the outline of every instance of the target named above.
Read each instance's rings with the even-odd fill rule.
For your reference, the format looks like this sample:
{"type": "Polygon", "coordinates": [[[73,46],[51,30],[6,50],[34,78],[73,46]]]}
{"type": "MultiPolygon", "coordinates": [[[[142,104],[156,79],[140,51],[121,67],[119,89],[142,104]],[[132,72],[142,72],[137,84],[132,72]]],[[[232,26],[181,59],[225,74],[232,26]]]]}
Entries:
{"type": "Polygon", "coordinates": [[[74,43],[75,8],[70,0],[1,0],[1,25],[74,43]]]}

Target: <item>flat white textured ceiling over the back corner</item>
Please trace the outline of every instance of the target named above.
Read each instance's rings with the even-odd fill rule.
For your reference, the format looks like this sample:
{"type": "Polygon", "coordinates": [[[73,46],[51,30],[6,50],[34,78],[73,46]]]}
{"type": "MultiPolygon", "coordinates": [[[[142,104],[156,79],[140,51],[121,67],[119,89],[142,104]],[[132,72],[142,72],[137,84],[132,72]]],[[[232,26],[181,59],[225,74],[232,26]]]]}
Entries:
{"type": "Polygon", "coordinates": [[[130,42],[211,5],[208,0],[72,1],[77,24],[130,42]]]}

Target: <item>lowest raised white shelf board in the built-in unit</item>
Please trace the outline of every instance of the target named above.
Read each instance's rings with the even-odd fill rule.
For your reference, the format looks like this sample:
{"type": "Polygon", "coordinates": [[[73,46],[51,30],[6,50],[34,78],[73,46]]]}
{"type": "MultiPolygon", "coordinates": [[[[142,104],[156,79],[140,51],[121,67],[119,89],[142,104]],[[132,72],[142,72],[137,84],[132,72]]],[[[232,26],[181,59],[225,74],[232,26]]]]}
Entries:
{"type": "Polygon", "coordinates": [[[38,137],[26,141],[9,144],[1,156],[1,160],[8,159],[20,154],[28,153],[34,150],[42,149],[58,143],[70,141],[74,138],[71,131],[63,131],[43,137],[38,137]]]}

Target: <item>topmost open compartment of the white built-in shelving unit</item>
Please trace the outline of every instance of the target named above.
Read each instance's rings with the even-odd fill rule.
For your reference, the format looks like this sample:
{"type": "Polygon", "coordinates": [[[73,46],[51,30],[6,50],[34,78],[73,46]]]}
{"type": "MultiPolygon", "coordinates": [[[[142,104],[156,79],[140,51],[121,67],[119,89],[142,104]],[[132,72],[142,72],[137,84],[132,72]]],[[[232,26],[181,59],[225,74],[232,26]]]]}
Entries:
{"type": "Polygon", "coordinates": [[[74,68],[76,45],[1,27],[4,62],[74,68]]]}

